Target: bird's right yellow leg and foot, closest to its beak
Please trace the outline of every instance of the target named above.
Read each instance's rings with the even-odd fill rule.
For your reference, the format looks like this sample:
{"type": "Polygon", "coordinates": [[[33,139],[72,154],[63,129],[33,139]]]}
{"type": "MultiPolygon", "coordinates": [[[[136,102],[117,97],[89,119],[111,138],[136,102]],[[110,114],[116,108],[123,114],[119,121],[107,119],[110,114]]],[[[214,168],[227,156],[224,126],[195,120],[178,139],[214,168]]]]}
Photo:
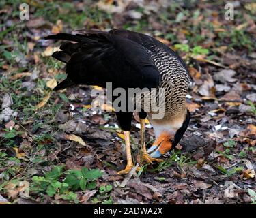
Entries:
{"type": "Polygon", "coordinates": [[[162,162],[162,159],[150,157],[147,153],[145,143],[145,119],[140,119],[139,121],[141,123],[141,161],[145,161],[146,163],[152,163],[152,161],[156,161],[158,163],[162,162]]]}

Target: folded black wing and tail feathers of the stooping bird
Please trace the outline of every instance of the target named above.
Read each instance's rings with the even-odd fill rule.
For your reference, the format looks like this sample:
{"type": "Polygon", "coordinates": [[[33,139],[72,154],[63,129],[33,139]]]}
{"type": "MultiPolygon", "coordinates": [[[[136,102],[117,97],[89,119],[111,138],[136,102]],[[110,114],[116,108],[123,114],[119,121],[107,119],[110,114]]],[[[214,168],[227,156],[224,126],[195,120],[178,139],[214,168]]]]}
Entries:
{"type": "Polygon", "coordinates": [[[160,73],[147,50],[141,44],[112,33],[49,35],[45,39],[67,40],[53,57],[67,63],[67,79],[55,87],[63,89],[72,84],[143,89],[158,87],[160,73]]]}

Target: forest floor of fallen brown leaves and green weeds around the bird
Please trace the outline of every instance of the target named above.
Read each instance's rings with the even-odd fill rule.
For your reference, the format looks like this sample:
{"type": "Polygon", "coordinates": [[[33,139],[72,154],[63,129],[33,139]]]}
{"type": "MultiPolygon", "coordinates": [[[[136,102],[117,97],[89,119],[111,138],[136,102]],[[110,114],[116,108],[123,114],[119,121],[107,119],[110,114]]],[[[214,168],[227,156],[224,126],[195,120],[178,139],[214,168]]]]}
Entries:
{"type": "MultiPolygon", "coordinates": [[[[0,3],[0,204],[255,204],[255,3],[233,1],[228,20],[221,1],[24,2],[29,20],[0,3]],[[100,87],[51,91],[66,74],[42,37],[81,28],[147,33],[186,61],[192,117],[164,162],[118,176],[124,135],[115,113],[91,110],[100,87]]],[[[134,116],[133,151],[139,127],[134,116]]]]}

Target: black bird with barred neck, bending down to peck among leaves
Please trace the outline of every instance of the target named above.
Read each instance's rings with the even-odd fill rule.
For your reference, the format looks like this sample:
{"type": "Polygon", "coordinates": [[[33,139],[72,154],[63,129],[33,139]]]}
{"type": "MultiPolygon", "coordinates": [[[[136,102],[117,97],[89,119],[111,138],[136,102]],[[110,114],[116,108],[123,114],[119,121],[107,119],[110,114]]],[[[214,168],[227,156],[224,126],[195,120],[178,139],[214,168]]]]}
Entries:
{"type": "MultiPolygon", "coordinates": [[[[106,82],[111,82],[113,88],[122,87],[126,91],[132,88],[149,90],[141,99],[137,96],[126,98],[129,104],[132,101],[144,103],[139,111],[141,162],[160,163],[162,159],[159,157],[180,142],[190,121],[186,94],[191,77],[184,61],[169,46],[150,35],[126,29],[79,29],[71,34],[48,35],[44,39],[64,40],[52,57],[66,63],[67,77],[57,84],[54,91],[79,84],[106,88],[106,82]],[[151,95],[152,90],[154,95],[151,95]],[[160,95],[160,90],[164,95],[160,95]],[[152,108],[145,110],[145,105],[153,99],[158,99],[158,106],[162,104],[161,119],[154,119],[156,112],[152,108]],[[146,118],[156,137],[150,149],[145,143],[146,118]]],[[[134,167],[130,146],[133,111],[115,113],[124,133],[127,160],[124,170],[117,174],[124,175],[134,167]]]]}

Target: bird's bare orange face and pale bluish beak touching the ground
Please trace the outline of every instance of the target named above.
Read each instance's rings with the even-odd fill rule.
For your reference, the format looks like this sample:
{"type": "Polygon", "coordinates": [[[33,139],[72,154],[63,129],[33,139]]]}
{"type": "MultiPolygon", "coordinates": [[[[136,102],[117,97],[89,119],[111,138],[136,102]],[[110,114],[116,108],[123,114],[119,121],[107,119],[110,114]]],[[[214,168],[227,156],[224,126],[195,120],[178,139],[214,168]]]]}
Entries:
{"type": "Polygon", "coordinates": [[[166,136],[166,134],[161,134],[154,144],[147,150],[147,153],[150,157],[158,158],[161,155],[167,153],[167,151],[171,150],[172,143],[170,140],[170,136],[166,136]]]}

